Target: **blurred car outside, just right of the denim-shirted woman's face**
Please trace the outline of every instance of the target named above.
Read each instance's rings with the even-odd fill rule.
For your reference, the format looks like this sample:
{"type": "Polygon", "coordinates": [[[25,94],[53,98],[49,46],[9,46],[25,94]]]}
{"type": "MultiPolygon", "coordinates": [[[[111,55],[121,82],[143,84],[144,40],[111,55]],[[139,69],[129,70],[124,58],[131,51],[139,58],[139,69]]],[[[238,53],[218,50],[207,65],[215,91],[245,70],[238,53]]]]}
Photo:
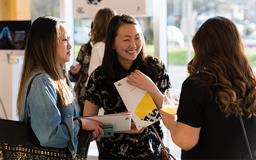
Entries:
{"type": "Polygon", "coordinates": [[[89,27],[74,27],[74,41],[75,45],[87,44],[89,38],[90,28],[89,27]]]}

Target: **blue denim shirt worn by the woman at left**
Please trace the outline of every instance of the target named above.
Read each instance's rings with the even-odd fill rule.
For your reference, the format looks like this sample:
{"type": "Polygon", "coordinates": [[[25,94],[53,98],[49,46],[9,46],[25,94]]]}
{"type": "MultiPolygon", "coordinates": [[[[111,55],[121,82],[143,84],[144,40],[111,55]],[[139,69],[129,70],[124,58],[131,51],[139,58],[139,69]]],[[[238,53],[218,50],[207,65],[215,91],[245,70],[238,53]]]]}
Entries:
{"type": "MultiPolygon", "coordinates": [[[[20,121],[23,121],[28,84],[23,96],[20,121]]],[[[72,156],[75,157],[79,125],[73,122],[73,117],[79,116],[77,101],[75,100],[76,111],[71,105],[61,109],[62,117],[57,102],[55,84],[51,77],[47,74],[36,76],[27,97],[28,122],[31,122],[32,129],[42,146],[68,147],[72,156]]]]}

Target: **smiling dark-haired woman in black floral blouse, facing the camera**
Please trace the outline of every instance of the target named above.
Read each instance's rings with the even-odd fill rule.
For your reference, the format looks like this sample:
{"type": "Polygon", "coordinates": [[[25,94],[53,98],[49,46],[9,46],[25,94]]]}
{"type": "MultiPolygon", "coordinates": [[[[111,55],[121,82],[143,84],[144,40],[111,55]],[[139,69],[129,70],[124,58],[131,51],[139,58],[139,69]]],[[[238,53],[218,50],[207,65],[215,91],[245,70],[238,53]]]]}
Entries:
{"type": "MultiPolygon", "coordinates": [[[[169,76],[163,61],[146,54],[139,22],[129,15],[112,17],[105,44],[102,66],[93,71],[87,84],[84,116],[97,115],[99,108],[104,109],[104,114],[127,111],[114,87],[114,82],[125,77],[134,81],[129,84],[148,91],[157,108],[161,108],[162,93],[171,87],[169,76]]],[[[154,123],[163,138],[159,125],[159,121],[154,123]]],[[[160,160],[160,142],[151,126],[138,131],[132,122],[130,130],[115,132],[99,144],[99,160],[160,160]]]]}

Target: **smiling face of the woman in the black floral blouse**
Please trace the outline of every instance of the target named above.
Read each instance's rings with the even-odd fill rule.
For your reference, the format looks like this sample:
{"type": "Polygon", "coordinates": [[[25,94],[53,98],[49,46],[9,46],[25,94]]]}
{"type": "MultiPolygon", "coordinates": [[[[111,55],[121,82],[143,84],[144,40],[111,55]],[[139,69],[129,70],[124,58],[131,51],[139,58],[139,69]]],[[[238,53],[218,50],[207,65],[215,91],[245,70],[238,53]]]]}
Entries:
{"type": "Polygon", "coordinates": [[[126,69],[129,69],[142,48],[141,29],[135,24],[120,26],[112,48],[116,50],[117,59],[126,69]]]}

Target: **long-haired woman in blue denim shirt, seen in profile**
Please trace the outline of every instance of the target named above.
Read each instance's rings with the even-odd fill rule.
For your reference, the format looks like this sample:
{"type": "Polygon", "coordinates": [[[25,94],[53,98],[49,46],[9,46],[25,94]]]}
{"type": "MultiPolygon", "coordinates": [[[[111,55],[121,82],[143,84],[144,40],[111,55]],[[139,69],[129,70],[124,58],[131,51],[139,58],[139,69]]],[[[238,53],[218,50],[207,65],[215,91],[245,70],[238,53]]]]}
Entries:
{"type": "MultiPolygon", "coordinates": [[[[28,121],[42,146],[68,147],[76,156],[79,107],[66,76],[65,62],[70,61],[70,33],[64,21],[55,17],[39,17],[29,30],[25,57],[17,97],[17,115],[23,121],[28,84],[33,76],[27,96],[28,121]],[[58,105],[61,106],[59,111],[58,105]]],[[[103,135],[101,122],[82,120],[82,129],[93,131],[93,140],[103,135]],[[90,125],[88,125],[90,124],[90,125]]]]}

